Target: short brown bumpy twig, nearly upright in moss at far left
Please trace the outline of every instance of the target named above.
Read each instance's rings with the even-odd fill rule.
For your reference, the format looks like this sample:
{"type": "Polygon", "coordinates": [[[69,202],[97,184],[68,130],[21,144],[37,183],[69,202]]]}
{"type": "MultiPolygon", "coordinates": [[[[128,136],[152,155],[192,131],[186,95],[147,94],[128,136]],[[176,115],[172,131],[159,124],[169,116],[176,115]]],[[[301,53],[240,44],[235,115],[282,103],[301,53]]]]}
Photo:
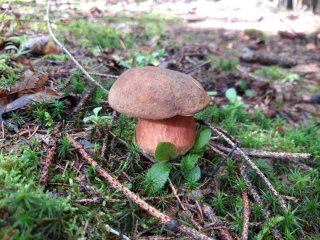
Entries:
{"type": "Polygon", "coordinates": [[[39,179],[39,184],[44,186],[47,185],[48,178],[49,178],[49,169],[52,165],[52,161],[54,159],[54,156],[56,154],[56,149],[57,149],[57,136],[56,134],[58,133],[59,129],[61,127],[61,123],[58,123],[57,126],[55,127],[55,130],[51,136],[50,142],[49,142],[49,152],[48,155],[44,161],[44,164],[41,168],[41,174],[40,174],[40,179],[39,179]]]}

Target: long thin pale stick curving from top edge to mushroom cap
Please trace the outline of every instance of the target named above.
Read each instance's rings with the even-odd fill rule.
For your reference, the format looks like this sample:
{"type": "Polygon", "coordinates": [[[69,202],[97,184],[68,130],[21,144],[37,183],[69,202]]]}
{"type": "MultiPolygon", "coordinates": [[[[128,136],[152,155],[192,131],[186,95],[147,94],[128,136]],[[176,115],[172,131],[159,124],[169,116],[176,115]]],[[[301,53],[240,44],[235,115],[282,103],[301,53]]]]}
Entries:
{"type": "Polygon", "coordinates": [[[51,29],[51,24],[50,24],[50,3],[51,0],[48,0],[47,2],[47,26],[48,26],[48,31],[50,36],[52,37],[53,41],[69,56],[69,58],[77,65],[77,67],[83,72],[83,74],[96,86],[100,87],[103,91],[108,93],[109,91],[105,89],[100,83],[98,83],[96,80],[94,80],[90,74],[81,66],[81,64],[71,55],[71,53],[63,46],[61,42],[56,38],[56,36],[53,34],[52,29],[51,29]]]}

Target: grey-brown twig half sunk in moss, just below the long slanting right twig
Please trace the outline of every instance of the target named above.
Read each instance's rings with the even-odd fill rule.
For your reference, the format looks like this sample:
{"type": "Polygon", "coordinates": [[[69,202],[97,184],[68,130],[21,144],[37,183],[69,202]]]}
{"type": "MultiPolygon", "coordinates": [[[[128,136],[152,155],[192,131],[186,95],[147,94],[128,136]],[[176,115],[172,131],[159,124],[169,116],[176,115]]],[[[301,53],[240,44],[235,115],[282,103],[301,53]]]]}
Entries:
{"type": "MultiPolygon", "coordinates": [[[[255,202],[257,202],[261,209],[262,209],[262,213],[263,216],[266,220],[270,219],[271,217],[271,213],[268,209],[265,209],[263,206],[263,201],[262,198],[260,197],[259,193],[257,192],[257,190],[255,189],[255,187],[252,185],[251,181],[248,178],[247,172],[246,172],[246,166],[244,164],[241,164],[240,167],[240,175],[243,177],[246,186],[249,190],[250,195],[252,196],[252,198],[254,199],[255,202]]],[[[283,237],[281,236],[281,233],[278,231],[278,229],[274,228],[272,229],[272,234],[274,236],[275,239],[278,240],[283,240],[283,237]]]]}

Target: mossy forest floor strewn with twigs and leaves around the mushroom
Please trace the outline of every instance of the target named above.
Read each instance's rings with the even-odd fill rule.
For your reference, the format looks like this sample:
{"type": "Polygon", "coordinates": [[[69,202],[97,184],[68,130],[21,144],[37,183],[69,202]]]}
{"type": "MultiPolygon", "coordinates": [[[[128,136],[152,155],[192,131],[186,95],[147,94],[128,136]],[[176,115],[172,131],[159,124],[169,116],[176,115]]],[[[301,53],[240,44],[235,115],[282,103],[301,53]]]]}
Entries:
{"type": "Polygon", "coordinates": [[[73,140],[148,204],[213,239],[319,239],[319,17],[150,2],[54,2],[50,22],[105,89],[147,65],[203,85],[212,101],[195,116],[195,146],[157,163],[135,144],[136,119],[115,113],[51,40],[46,4],[0,5],[0,239],[119,238],[109,227],[130,239],[194,238],[111,188],[73,140]],[[274,189],[237,150],[217,168],[233,146],[208,126],[274,189]]]}

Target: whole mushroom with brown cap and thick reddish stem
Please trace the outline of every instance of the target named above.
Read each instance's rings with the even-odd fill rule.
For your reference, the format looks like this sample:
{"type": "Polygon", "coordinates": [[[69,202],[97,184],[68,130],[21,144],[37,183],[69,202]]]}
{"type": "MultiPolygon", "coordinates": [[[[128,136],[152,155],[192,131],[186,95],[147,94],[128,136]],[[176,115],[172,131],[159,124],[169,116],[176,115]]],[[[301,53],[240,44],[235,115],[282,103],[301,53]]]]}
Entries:
{"type": "Polygon", "coordinates": [[[125,71],[109,92],[113,109],[138,118],[136,142],[150,155],[160,142],[174,144],[178,155],[190,150],[196,137],[192,115],[209,102],[206,91],[189,75],[150,66],[125,71]]]}

